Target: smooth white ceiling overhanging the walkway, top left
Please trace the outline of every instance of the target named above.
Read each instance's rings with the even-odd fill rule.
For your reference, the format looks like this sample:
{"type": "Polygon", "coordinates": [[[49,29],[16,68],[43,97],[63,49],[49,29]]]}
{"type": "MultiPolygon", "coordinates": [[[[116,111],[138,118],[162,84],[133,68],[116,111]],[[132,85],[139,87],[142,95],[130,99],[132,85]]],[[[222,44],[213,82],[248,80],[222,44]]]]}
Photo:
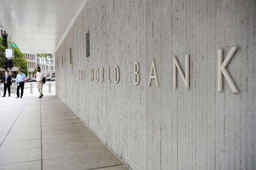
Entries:
{"type": "Polygon", "coordinates": [[[87,0],[0,0],[0,24],[22,53],[55,53],[87,0]]]}

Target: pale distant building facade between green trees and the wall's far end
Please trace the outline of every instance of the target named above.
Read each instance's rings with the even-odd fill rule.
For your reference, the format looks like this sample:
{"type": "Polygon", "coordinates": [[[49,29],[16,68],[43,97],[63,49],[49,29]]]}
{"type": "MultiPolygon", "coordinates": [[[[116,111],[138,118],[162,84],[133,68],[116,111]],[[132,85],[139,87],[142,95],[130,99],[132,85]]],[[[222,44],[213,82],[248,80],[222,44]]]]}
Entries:
{"type": "Polygon", "coordinates": [[[55,78],[55,55],[47,55],[46,57],[37,57],[37,67],[40,67],[46,76],[55,78]]]}

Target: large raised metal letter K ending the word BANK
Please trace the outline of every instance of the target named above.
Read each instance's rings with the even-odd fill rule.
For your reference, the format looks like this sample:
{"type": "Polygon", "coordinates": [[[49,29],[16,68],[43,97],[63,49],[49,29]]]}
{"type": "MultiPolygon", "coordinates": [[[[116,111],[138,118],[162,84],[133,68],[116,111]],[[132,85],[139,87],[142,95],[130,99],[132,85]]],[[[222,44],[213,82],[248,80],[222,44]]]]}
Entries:
{"type": "Polygon", "coordinates": [[[228,70],[226,69],[226,67],[228,66],[228,63],[234,56],[237,49],[238,49],[237,46],[232,47],[228,52],[228,55],[224,61],[223,61],[223,49],[218,49],[218,91],[219,92],[222,92],[223,90],[223,76],[227,80],[228,85],[230,86],[232,92],[234,93],[239,92],[239,90],[237,89],[237,86],[235,85],[235,82],[233,81],[232,77],[228,73],[228,70]]]}

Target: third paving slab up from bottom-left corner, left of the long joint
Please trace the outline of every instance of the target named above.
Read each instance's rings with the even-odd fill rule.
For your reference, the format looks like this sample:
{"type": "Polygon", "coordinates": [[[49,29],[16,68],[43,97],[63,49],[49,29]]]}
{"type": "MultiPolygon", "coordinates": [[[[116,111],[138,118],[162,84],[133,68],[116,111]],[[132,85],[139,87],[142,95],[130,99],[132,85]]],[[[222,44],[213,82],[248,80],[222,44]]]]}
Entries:
{"type": "Polygon", "coordinates": [[[2,146],[0,147],[0,152],[32,149],[32,148],[41,148],[41,139],[3,142],[2,146]]]}

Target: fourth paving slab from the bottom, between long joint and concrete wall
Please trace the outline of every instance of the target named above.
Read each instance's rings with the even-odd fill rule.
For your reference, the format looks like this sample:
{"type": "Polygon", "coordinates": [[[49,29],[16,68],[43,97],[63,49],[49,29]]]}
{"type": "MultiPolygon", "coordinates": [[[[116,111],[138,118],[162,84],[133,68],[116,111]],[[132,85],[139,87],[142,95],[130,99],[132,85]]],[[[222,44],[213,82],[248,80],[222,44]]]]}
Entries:
{"type": "Polygon", "coordinates": [[[61,130],[61,131],[45,131],[45,132],[42,132],[42,138],[81,135],[81,134],[86,134],[86,133],[92,133],[92,132],[88,128],[61,130]]]}

